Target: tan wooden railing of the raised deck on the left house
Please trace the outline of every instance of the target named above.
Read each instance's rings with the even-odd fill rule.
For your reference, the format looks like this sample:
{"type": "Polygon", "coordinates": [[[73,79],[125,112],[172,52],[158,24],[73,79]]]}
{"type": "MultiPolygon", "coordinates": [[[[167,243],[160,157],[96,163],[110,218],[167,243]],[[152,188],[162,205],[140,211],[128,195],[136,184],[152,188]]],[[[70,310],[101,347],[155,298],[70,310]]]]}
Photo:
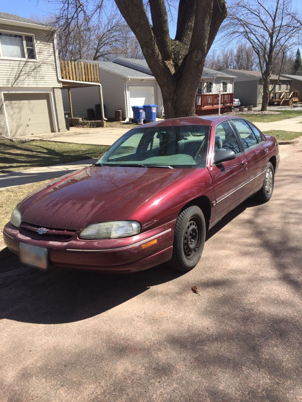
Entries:
{"type": "Polygon", "coordinates": [[[99,65],[88,62],[66,62],[61,60],[61,78],[68,81],[100,82],[99,65]]]}

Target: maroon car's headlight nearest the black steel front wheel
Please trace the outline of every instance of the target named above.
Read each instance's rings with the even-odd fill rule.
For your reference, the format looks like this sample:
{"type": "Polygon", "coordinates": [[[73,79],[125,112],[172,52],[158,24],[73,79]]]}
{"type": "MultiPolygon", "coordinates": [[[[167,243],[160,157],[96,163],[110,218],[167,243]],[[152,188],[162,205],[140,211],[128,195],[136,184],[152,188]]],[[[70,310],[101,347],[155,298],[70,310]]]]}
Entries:
{"type": "Polygon", "coordinates": [[[134,236],[141,231],[141,224],[135,221],[102,222],[87,226],[80,233],[80,239],[118,239],[134,236]]]}

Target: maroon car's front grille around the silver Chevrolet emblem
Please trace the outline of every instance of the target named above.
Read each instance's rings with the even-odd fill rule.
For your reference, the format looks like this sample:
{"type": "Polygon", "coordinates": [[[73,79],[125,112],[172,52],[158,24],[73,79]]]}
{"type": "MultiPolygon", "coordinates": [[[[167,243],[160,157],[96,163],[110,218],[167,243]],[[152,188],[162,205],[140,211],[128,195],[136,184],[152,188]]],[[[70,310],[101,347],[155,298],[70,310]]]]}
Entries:
{"type": "Polygon", "coordinates": [[[30,237],[34,240],[46,240],[52,242],[67,242],[71,240],[76,230],[65,230],[65,229],[54,229],[54,228],[46,228],[48,232],[44,234],[37,233],[37,230],[41,228],[41,226],[29,224],[27,222],[22,222],[19,228],[20,234],[23,236],[30,237]]]}

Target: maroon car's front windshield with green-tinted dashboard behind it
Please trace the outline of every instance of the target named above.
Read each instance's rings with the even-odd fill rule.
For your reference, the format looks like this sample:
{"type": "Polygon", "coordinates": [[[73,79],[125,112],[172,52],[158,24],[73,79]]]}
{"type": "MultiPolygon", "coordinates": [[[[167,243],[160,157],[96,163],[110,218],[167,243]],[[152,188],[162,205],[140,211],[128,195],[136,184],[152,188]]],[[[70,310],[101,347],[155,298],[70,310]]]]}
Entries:
{"type": "Polygon", "coordinates": [[[97,164],[205,167],[209,131],[205,125],[138,127],[123,135],[97,164]]]}

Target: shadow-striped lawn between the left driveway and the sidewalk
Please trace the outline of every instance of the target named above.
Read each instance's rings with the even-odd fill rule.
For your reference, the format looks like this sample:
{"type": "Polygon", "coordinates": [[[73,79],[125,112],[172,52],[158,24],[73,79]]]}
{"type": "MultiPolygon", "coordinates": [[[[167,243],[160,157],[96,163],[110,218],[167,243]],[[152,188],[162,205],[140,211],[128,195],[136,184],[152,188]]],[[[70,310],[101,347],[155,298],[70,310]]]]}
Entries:
{"type": "Polygon", "coordinates": [[[0,173],[98,158],[108,146],[0,139],[0,173]]]}

